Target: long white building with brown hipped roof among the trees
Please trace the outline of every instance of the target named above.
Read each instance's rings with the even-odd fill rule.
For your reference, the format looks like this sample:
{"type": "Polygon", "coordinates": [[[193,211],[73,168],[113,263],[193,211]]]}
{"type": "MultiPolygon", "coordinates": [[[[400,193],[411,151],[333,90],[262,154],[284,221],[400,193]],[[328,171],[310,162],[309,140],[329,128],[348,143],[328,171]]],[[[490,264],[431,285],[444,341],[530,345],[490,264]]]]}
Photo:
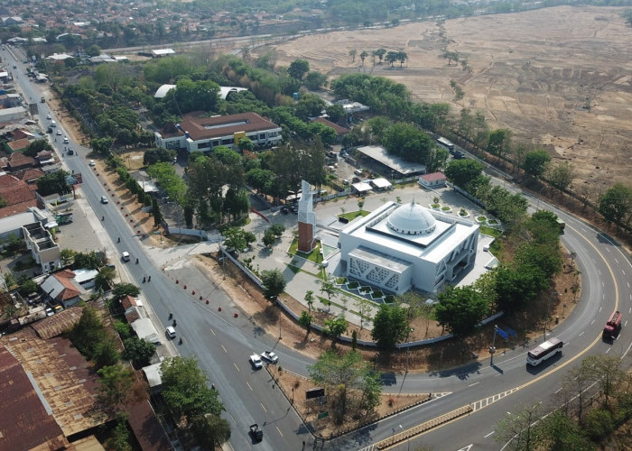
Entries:
{"type": "Polygon", "coordinates": [[[244,138],[264,148],[282,139],[281,127],[256,113],[212,117],[185,115],[180,124],[156,132],[154,136],[157,147],[186,149],[187,152],[209,152],[219,145],[233,147],[244,138]]]}

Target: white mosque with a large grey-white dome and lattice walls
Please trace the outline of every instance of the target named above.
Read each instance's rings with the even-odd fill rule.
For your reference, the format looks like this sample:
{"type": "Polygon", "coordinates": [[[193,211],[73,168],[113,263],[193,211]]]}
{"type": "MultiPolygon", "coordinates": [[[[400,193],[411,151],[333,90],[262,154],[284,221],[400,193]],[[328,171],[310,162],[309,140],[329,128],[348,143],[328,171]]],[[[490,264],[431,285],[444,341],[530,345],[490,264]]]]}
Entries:
{"type": "Polygon", "coordinates": [[[414,202],[388,202],[339,235],[346,275],[395,294],[436,292],[473,267],[479,226],[414,202]]]}

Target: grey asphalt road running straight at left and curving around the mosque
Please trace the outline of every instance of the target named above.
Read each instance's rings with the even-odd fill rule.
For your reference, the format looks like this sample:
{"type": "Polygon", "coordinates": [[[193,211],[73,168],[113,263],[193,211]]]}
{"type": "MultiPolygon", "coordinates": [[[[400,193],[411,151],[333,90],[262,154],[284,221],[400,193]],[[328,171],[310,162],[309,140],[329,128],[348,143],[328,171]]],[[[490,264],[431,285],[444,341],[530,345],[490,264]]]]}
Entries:
{"type": "MultiPolygon", "coordinates": [[[[5,56],[6,52],[3,52],[5,56]]],[[[39,100],[41,96],[38,91],[22,73],[16,74],[16,79],[27,97],[39,100]]],[[[38,106],[42,117],[45,117],[48,106],[39,102],[38,106]]],[[[79,151],[79,156],[66,157],[66,162],[71,170],[85,174],[83,190],[88,201],[98,217],[106,216],[102,222],[103,230],[95,233],[107,233],[115,243],[116,238],[121,237],[121,243],[113,244],[114,248],[117,253],[126,250],[132,254],[133,260],[125,265],[125,271],[139,285],[145,275],[152,276],[152,282],[143,286],[144,294],[165,325],[169,312],[175,314],[178,318],[178,334],[184,337],[183,344],[178,346],[181,354],[197,355],[201,368],[209,374],[210,382],[218,386],[228,409],[227,418],[233,427],[231,445],[239,450],[253,446],[246,433],[253,422],[259,423],[265,431],[264,441],[256,445],[257,449],[301,449],[303,439],[311,443],[311,437],[301,426],[300,419],[289,402],[274,388],[267,373],[255,372],[249,367],[248,355],[274,346],[274,338],[261,335],[248,318],[220,316],[218,312],[196,302],[194,297],[173,281],[163,277],[162,271],[153,266],[144,245],[135,237],[116,207],[112,203],[104,206],[98,202],[106,191],[98,179],[88,175],[88,150],[80,148],[77,143],[72,145],[79,151]],[[134,262],[136,257],[140,261],[137,265],[134,262]]],[[[374,196],[380,197],[384,195],[374,196]]],[[[370,199],[367,198],[367,208],[370,207],[370,199]]],[[[533,203],[536,201],[533,200],[533,203]]],[[[414,448],[423,445],[453,450],[471,445],[469,449],[499,449],[501,444],[494,441],[494,424],[497,420],[506,416],[507,412],[515,411],[521,404],[534,400],[543,400],[544,403],[553,400],[555,391],[561,387],[563,374],[579,364],[581,357],[589,354],[617,354],[625,358],[626,366],[629,365],[627,352],[632,343],[632,333],[627,330],[627,318],[632,315],[629,286],[632,266],[627,256],[607,235],[544,202],[539,202],[539,207],[553,209],[566,221],[562,242],[577,254],[575,260],[582,275],[578,307],[562,325],[553,330],[553,335],[565,343],[562,356],[536,369],[527,368],[525,353],[535,345],[530,344],[507,354],[497,354],[493,366],[489,361],[482,361],[441,373],[408,374],[405,378],[401,374],[386,375],[387,391],[431,391],[438,397],[414,410],[328,442],[326,449],[371,447],[380,439],[470,403],[475,411],[469,416],[434,428],[397,447],[405,449],[407,446],[414,448]],[[600,331],[615,308],[623,311],[627,318],[624,318],[624,327],[618,340],[608,344],[601,341],[600,331]]],[[[207,288],[211,290],[211,287],[207,288]]],[[[230,299],[226,299],[223,291],[211,291],[218,303],[230,304],[230,299]]],[[[539,343],[543,339],[537,341],[539,343]]],[[[287,349],[280,348],[279,354],[283,366],[297,372],[304,373],[305,365],[309,364],[300,354],[287,349]]]]}

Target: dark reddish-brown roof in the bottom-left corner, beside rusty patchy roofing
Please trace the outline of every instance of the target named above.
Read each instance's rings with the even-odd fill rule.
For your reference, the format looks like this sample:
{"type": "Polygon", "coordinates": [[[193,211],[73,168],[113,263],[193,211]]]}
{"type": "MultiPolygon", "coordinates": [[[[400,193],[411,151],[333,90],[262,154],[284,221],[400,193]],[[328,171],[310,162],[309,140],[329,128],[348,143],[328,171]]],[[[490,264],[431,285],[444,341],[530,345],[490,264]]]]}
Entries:
{"type": "Polygon", "coordinates": [[[5,346],[0,347],[0,400],[0,448],[63,449],[68,445],[57,421],[44,409],[22,364],[5,346]]]}

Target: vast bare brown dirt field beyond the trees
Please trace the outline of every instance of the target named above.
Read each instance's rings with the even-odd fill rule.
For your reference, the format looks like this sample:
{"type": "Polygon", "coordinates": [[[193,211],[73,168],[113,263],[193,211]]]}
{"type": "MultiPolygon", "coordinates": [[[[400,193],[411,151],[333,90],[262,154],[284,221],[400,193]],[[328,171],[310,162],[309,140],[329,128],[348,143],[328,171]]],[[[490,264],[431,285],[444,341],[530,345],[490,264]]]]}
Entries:
{"type": "MultiPolygon", "coordinates": [[[[406,85],[425,102],[485,112],[491,129],[508,127],[516,140],[541,145],[578,173],[573,188],[597,198],[613,181],[629,182],[632,163],[632,28],[621,8],[546,8],[387,30],[333,32],[275,47],[277,65],[309,60],[335,78],[367,71],[406,85]],[[457,51],[471,72],[441,57],[457,51]],[[400,69],[349,59],[379,48],[405,51],[400,69]],[[465,92],[458,103],[450,81],[465,92]],[[585,108],[590,102],[590,111],[585,108]]],[[[255,53],[262,53],[260,49],[255,53]]]]}

